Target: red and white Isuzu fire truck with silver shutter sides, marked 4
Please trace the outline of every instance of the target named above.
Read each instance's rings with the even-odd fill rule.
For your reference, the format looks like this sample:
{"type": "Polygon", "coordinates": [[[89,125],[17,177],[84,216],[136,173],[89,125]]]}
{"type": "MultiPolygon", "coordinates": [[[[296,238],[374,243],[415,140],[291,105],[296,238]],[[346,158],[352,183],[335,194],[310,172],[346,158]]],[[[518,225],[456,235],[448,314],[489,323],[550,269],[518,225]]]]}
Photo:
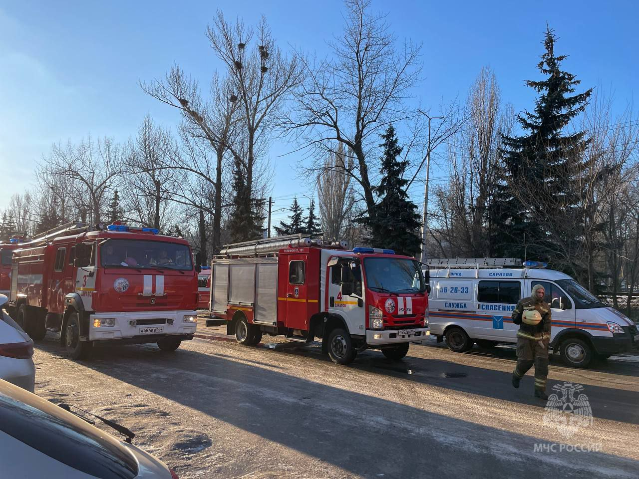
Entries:
{"type": "Polygon", "coordinates": [[[226,318],[241,344],[263,333],[317,337],[332,361],[348,364],[364,349],[401,359],[429,335],[428,279],[392,250],[281,236],[226,245],[211,274],[212,315],[226,318]]]}

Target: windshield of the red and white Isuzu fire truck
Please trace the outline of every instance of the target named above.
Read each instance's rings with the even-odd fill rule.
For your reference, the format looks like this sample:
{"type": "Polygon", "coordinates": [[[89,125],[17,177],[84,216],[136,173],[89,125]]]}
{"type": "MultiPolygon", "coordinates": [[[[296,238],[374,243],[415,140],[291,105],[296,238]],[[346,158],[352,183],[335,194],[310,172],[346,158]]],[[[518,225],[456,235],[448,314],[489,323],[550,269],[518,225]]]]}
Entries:
{"type": "Polygon", "coordinates": [[[366,286],[385,293],[424,293],[424,276],[414,259],[364,259],[366,286]]]}

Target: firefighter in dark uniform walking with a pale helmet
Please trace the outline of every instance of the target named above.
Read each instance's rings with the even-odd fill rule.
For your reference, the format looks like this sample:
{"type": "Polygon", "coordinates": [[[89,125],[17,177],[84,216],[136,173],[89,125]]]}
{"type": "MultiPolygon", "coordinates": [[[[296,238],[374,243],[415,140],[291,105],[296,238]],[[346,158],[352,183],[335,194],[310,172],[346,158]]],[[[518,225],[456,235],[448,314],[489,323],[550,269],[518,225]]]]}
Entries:
{"type": "Polygon", "coordinates": [[[523,298],[512,311],[517,331],[517,365],[512,371],[512,385],[519,388],[521,378],[535,365],[535,397],[548,399],[548,343],[550,342],[550,307],[544,301],[544,287],[534,285],[529,298],[523,298]]]}

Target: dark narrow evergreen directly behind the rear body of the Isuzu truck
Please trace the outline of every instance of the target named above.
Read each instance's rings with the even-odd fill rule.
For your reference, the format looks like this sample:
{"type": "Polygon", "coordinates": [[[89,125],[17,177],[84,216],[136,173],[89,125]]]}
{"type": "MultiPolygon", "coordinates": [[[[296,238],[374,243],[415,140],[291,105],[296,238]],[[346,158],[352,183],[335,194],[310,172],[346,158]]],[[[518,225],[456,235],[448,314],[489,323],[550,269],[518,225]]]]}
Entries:
{"type": "Polygon", "coordinates": [[[233,169],[233,213],[228,227],[231,241],[249,241],[263,236],[264,199],[253,198],[246,185],[246,173],[240,162],[233,169]]]}

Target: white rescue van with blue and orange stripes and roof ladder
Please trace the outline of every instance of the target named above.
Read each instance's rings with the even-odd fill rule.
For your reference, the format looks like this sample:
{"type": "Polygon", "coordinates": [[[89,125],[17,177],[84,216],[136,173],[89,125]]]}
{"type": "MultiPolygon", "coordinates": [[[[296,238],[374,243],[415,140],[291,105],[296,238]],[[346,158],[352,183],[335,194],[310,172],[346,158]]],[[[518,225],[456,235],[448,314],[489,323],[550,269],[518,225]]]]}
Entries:
{"type": "Polygon", "coordinates": [[[429,325],[438,342],[456,352],[516,343],[511,314],[541,284],[552,311],[550,347],[573,367],[587,367],[639,348],[637,326],[601,303],[573,278],[514,258],[431,259],[429,325]],[[517,265],[521,265],[517,268],[517,265]]]}

